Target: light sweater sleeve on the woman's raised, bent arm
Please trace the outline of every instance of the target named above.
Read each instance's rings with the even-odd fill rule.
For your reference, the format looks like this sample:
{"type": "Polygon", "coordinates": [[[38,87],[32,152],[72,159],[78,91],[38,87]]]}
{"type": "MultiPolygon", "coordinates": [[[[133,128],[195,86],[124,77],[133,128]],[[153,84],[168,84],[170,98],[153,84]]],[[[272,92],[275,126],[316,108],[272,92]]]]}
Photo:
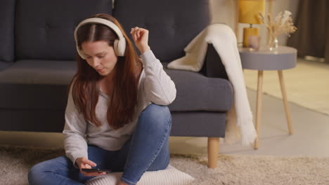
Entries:
{"type": "Polygon", "coordinates": [[[160,60],[157,60],[152,50],[141,54],[144,72],[143,88],[150,102],[160,105],[171,104],[176,98],[174,81],[164,71],[160,60]]]}

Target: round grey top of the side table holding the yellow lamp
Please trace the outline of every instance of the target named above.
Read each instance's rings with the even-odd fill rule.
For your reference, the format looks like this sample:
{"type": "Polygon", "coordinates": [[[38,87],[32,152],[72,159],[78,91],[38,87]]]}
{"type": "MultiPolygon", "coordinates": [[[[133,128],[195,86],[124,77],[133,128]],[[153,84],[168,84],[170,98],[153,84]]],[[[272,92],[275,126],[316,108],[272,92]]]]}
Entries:
{"type": "Polygon", "coordinates": [[[283,70],[293,68],[297,63],[297,50],[288,46],[279,46],[277,50],[239,47],[239,53],[243,69],[283,70]]]}

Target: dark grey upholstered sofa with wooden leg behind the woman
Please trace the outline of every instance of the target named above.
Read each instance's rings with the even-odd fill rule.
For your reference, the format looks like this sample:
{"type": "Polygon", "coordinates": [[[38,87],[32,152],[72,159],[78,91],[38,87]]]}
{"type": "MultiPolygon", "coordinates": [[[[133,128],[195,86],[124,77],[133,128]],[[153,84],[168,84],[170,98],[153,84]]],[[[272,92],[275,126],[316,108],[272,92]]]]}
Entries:
{"type": "MultiPolygon", "coordinates": [[[[210,20],[206,0],[1,0],[0,130],[62,132],[76,70],[73,31],[95,13],[113,15],[127,32],[149,29],[164,67],[210,20]]],[[[208,137],[209,167],[216,167],[233,89],[212,45],[205,60],[199,73],[165,69],[177,89],[171,135],[208,137]]]]}

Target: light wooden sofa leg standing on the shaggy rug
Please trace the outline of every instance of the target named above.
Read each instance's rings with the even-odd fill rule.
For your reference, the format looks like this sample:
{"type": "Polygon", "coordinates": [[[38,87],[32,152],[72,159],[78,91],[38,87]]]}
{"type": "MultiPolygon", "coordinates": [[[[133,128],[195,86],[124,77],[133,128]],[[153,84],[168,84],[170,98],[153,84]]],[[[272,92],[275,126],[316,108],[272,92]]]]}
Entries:
{"type": "Polygon", "coordinates": [[[208,137],[208,167],[217,168],[219,137],[208,137]]]}

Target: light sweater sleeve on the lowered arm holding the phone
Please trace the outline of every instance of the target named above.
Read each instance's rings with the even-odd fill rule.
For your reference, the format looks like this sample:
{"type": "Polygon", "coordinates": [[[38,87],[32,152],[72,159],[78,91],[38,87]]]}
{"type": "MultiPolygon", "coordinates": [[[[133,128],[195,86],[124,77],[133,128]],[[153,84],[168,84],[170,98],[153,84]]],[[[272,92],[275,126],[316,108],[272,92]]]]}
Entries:
{"type": "Polygon", "coordinates": [[[88,158],[86,139],[84,139],[84,135],[86,134],[86,124],[84,116],[79,114],[75,107],[71,89],[65,109],[65,126],[63,134],[65,154],[67,158],[72,160],[74,165],[77,158],[88,158]]]}

